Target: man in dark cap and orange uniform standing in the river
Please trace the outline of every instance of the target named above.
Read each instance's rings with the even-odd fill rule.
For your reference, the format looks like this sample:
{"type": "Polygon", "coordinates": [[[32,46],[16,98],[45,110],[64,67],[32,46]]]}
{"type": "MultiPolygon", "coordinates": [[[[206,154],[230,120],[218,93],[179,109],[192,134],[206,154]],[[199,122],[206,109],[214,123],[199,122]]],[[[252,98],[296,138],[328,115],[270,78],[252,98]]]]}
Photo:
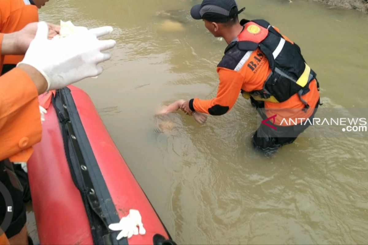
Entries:
{"type": "Polygon", "coordinates": [[[203,19],[215,36],[228,46],[217,65],[219,89],[216,98],[193,98],[181,109],[223,115],[230,111],[239,93],[250,98],[262,119],[277,114],[275,128],[261,124],[252,142],[256,149],[274,152],[292,143],[309,125],[280,125],[282,118],[311,118],[319,105],[316,73],[307,65],[300,48],[265,20],[239,22],[234,0],[204,0],[191,9],[194,19],[203,19]]]}

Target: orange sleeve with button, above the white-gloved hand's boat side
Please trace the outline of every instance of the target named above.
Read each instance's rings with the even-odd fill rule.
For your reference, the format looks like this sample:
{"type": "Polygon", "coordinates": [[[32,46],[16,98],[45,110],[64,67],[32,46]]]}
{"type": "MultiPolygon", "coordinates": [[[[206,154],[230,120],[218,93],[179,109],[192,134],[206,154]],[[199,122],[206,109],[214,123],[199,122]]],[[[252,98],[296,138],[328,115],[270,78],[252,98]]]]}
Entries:
{"type": "Polygon", "coordinates": [[[20,68],[0,77],[0,160],[26,162],[41,140],[38,92],[20,68]]]}

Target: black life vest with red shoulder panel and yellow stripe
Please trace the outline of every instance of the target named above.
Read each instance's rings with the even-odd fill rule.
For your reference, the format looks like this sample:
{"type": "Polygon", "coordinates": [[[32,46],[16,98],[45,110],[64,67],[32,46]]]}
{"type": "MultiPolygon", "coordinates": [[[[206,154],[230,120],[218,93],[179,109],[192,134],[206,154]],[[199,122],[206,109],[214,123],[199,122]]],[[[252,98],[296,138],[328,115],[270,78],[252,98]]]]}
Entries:
{"type": "MultiPolygon", "coordinates": [[[[287,42],[265,20],[243,19],[240,24],[244,26],[244,30],[227,46],[225,55],[234,47],[250,53],[259,48],[272,70],[263,84],[263,89],[251,91],[249,94],[255,100],[283,102],[297,93],[305,107],[309,108],[308,103],[301,96],[309,92],[309,83],[316,78],[316,73],[306,64],[299,46],[296,43],[287,42]]],[[[239,71],[245,63],[240,61],[235,69],[239,71]]],[[[242,91],[242,94],[245,95],[247,92],[242,91]]]]}

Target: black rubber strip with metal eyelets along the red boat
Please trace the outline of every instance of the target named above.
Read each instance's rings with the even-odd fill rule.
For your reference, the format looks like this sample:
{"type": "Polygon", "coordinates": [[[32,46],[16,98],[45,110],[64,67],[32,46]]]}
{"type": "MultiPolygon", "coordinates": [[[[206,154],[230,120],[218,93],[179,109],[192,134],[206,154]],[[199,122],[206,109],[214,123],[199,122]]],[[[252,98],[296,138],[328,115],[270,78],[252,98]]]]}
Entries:
{"type": "Polygon", "coordinates": [[[59,118],[70,173],[75,186],[81,193],[91,226],[93,243],[127,245],[127,238],[117,241],[119,232],[110,231],[108,228],[109,224],[119,223],[120,219],[93,154],[70,89],[57,90],[52,103],[59,118]]]}

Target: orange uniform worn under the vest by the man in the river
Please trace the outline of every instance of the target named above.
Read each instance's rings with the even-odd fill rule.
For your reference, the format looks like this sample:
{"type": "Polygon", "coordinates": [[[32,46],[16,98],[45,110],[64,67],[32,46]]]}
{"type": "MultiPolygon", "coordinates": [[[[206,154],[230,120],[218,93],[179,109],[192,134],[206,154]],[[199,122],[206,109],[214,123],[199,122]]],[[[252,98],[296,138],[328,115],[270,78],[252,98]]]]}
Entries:
{"type": "MultiPolygon", "coordinates": [[[[279,30],[275,28],[277,32],[279,30]]],[[[287,42],[291,42],[286,36],[283,38],[287,42]]],[[[291,42],[292,43],[292,42],[291,42]]],[[[219,74],[219,88],[215,98],[210,100],[201,100],[199,98],[191,99],[189,106],[192,111],[212,114],[223,115],[231,110],[234,106],[241,90],[251,92],[254,90],[262,90],[264,82],[272,70],[270,69],[269,62],[262,51],[257,48],[254,50],[242,68],[238,71],[236,69],[229,69],[218,66],[217,73],[219,74]]],[[[310,91],[301,96],[311,108],[314,108],[319,100],[319,92],[317,88],[316,80],[309,84],[310,91]]],[[[300,100],[298,94],[294,94],[288,100],[284,102],[268,102],[265,101],[265,108],[304,108],[305,104],[300,100]]],[[[288,118],[293,112],[300,112],[299,117],[309,118],[312,115],[313,109],[308,109],[307,112],[301,112],[301,110],[278,110],[279,115],[276,118],[276,123],[280,123],[278,120],[282,118],[288,118]]],[[[271,113],[272,114],[272,113],[271,113]]]]}

